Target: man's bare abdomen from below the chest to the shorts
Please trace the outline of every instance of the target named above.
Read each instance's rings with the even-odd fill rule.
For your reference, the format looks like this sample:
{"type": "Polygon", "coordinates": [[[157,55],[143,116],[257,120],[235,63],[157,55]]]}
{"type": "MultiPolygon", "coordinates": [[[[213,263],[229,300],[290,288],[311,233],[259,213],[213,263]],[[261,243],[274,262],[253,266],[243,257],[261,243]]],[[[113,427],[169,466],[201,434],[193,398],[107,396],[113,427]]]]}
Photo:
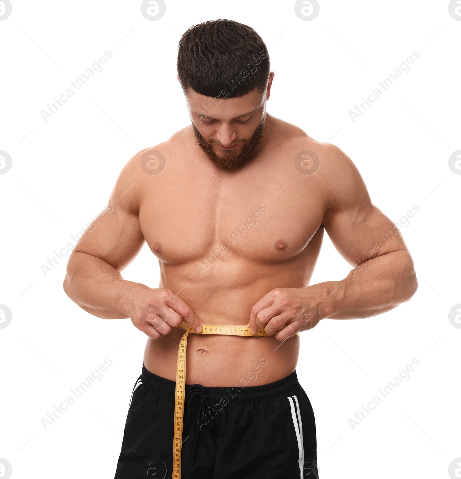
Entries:
{"type": "MultiPolygon", "coordinates": [[[[232,267],[235,268],[235,264],[232,267]]],[[[267,276],[248,276],[226,265],[215,265],[214,276],[194,281],[183,275],[183,268],[163,269],[161,284],[171,291],[181,291],[181,299],[191,307],[202,324],[245,326],[251,308],[274,288],[268,279],[277,278],[280,287],[303,285],[304,265],[274,268],[267,276]],[[276,272],[278,274],[276,274],[276,272]],[[238,278],[238,282],[226,280],[238,278]],[[225,279],[222,279],[225,278],[225,279]]],[[[259,272],[259,270],[257,270],[259,272]]],[[[179,342],[184,331],[172,328],[160,339],[148,338],[144,352],[146,369],[172,381],[176,379],[179,342]]],[[[189,333],[186,354],[186,384],[208,387],[260,386],[289,376],[296,368],[299,336],[278,341],[275,336],[227,336],[189,333]]]]}

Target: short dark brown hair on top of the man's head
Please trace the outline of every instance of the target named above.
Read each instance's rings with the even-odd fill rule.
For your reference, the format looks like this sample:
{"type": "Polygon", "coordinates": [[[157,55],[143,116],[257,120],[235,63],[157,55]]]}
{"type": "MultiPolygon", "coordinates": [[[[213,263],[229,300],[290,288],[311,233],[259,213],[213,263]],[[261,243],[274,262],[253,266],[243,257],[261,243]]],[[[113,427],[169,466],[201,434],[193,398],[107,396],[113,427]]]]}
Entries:
{"type": "Polygon", "coordinates": [[[180,39],[178,75],[189,88],[215,98],[235,98],[266,90],[269,52],[249,26],[221,18],[191,26],[180,39]]]}

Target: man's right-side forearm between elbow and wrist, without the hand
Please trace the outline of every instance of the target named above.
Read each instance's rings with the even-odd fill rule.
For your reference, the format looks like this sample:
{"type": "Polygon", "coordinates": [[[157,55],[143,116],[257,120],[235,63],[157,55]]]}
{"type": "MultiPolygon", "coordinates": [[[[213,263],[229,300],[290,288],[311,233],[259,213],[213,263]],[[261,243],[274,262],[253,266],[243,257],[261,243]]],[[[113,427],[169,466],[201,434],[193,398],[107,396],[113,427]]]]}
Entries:
{"type": "Polygon", "coordinates": [[[341,281],[309,286],[309,297],[322,319],[369,318],[408,301],[417,288],[416,273],[408,251],[377,256],[354,268],[341,281]]]}

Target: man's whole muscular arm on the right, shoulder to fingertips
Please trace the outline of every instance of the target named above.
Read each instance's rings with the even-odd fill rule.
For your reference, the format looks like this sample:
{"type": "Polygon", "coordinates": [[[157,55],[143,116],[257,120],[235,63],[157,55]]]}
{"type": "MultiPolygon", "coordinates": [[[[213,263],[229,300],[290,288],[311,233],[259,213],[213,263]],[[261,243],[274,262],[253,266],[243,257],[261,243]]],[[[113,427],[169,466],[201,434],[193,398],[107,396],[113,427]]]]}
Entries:
{"type": "Polygon", "coordinates": [[[318,173],[328,198],[322,224],[339,254],[355,268],[340,281],[276,288],[261,298],[251,310],[250,328],[271,334],[285,325],[276,335],[280,341],[312,329],[320,319],[368,318],[389,311],[408,301],[417,288],[402,236],[372,205],[353,162],[333,145],[319,145],[318,153],[323,159],[318,173]]]}

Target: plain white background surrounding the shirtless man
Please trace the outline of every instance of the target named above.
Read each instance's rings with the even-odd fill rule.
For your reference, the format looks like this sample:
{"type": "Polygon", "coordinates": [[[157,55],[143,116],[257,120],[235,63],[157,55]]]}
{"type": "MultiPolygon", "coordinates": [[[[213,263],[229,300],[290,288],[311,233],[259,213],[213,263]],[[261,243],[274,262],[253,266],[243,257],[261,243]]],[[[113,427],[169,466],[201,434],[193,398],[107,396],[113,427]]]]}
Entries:
{"type": "MultiPolygon", "coordinates": [[[[275,71],[268,111],[355,162],[372,202],[400,222],[419,287],[369,319],[324,320],[302,333],[297,373],[317,424],[320,477],[450,478],[461,456],[461,21],[448,1],[320,1],[302,21],[294,1],[167,1],[147,21],[140,1],[12,1],[0,22],[0,457],[12,478],[112,478],[146,336],[129,319],[103,320],[65,295],[67,258],[41,265],[107,203],[124,163],[190,123],[176,80],[180,35],[228,18],[252,26],[275,71]],[[113,56],[45,122],[40,114],[109,49],[113,56]],[[352,122],[349,110],[413,50],[421,55],[352,122]],[[113,364],[45,430],[41,419],[104,360],[113,364]],[[413,358],[411,377],[355,429],[361,405],[413,358]]],[[[309,206],[306,205],[306,212],[309,206]]],[[[328,237],[311,284],[349,273],[328,237]]],[[[124,277],[157,287],[145,248],[124,277]]],[[[461,462],[461,460],[460,460],[461,462]]],[[[460,477],[460,476],[452,476],[460,477]]]]}

